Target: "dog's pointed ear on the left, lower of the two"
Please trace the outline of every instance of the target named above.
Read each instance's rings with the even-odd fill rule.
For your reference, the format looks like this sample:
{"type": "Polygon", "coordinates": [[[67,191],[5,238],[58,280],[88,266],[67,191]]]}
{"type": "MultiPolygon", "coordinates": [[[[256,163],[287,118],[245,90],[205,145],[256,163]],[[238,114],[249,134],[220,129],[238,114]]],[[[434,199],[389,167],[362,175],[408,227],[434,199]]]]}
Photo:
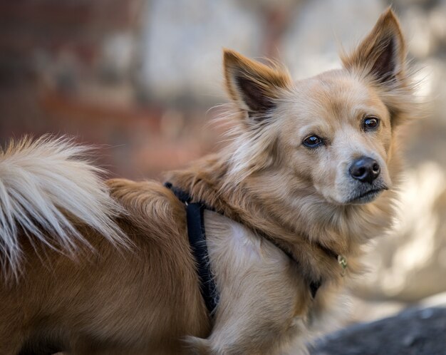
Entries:
{"type": "Polygon", "coordinates": [[[223,66],[229,97],[249,116],[261,117],[274,109],[281,90],[291,86],[286,71],[251,61],[235,51],[224,49],[223,66]]]}

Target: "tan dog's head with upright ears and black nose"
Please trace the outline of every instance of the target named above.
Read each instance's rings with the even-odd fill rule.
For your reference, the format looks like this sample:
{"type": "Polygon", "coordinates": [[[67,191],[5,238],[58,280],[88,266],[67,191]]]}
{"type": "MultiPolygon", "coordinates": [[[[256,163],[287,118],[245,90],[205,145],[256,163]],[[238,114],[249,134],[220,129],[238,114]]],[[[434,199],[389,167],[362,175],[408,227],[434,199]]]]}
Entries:
{"type": "Polygon", "coordinates": [[[336,205],[375,200],[392,185],[394,131],[410,114],[405,57],[390,9],[342,69],[295,83],[278,66],[224,51],[227,91],[241,113],[231,173],[271,185],[285,177],[336,205]]]}

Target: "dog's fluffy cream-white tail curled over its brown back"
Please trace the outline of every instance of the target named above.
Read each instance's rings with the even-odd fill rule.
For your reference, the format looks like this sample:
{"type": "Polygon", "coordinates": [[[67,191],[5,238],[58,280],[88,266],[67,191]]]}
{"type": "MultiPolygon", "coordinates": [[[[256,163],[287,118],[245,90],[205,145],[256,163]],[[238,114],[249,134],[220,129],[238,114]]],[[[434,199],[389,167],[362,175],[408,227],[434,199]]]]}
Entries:
{"type": "Polygon", "coordinates": [[[11,141],[0,149],[0,263],[4,273],[19,273],[19,235],[73,254],[90,247],[74,223],[97,230],[115,245],[127,240],[113,217],[118,204],[90,165],[89,148],[67,138],[11,141]]]}

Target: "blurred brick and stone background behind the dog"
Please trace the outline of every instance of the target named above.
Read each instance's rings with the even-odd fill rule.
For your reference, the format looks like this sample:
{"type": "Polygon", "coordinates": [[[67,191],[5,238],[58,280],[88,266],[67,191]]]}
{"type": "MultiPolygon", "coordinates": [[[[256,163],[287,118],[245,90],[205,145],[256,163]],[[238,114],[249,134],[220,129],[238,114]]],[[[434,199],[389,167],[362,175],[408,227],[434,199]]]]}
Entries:
{"type": "MultiPolygon", "coordinates": [[[[160,178],[216,149],[222,48],[294,78],[340,66],[384,0],[2,0],[0,143],[26,133],[100,145],[110,176],[160,178]],[[215,108],[213,108],[215,107],[215,108]]],[[[446,303],[446,0],[394,0],[427,118],[405,135],[395,230],[370,248],[347,322],[446,303]]]]}

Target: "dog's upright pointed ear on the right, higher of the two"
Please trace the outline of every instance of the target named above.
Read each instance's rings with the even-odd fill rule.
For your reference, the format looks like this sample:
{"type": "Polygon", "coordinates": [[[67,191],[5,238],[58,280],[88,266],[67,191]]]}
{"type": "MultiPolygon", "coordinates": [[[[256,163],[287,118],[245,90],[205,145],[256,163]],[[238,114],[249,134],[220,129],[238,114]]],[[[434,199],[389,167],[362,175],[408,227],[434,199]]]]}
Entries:
{"type": "Polygon", "coordinates": [[[349,56],[341,56],[348,71],[360,71],[375,82],[393,84],[405,78],[406,46],[400,24],[390,7],[349,56]]]}

